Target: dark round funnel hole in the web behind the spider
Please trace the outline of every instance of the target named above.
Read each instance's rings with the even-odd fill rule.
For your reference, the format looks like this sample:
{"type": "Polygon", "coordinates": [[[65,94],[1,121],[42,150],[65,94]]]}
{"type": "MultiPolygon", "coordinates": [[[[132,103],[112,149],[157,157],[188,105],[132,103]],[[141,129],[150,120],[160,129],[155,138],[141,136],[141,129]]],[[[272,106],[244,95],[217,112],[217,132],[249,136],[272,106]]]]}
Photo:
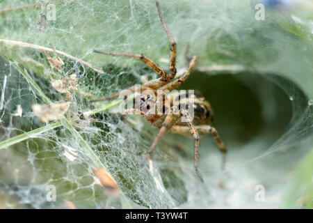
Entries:
{"type": "Polygon", "coordinates": [[[240,145],[259,134],[266,134],[264,139],[271,143],[287,130],[294,107],[303,107],[302,101],[289,100],[287,86],[292,86],[294,95],[304,95],[288,79],[248,72],[236,75],[193,72],[182,89],[200,91],[213,107],[214,125],[220,136],[228,145],[240,145]]]}

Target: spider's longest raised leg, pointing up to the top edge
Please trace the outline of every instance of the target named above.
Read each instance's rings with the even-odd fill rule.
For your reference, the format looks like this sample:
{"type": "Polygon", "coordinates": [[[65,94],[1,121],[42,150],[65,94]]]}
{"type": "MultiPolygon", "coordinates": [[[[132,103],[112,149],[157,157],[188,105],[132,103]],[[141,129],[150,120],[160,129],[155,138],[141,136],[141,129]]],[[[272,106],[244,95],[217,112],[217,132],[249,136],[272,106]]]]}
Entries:
{"type": "Polygon", "coordinates": [[[161,14],[161,10],[159,7],[159,2],[156,2],[157,10],[159,13],[159,17],[161,20],[161,23],[166,31],[166,34],[168,34],[168,38],[170,40],[170,79],[173,79],[176,75],[176,55],[177,55],[177,46],[175,40],[172,38],[172,35],[170,34],[170,31],[168,30],[168,27],[166,26],[166,23],[164,22],[161,14]]]}

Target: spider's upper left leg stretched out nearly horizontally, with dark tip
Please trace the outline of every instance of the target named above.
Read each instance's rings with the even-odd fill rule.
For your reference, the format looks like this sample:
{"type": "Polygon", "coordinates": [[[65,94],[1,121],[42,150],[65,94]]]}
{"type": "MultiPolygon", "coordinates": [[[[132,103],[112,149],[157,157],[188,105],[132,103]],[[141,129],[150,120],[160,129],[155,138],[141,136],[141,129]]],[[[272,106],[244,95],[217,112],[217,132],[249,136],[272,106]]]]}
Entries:
{"type": "Polygon", "coordinates": [[[157,64],[154,63],[152,59],[147,58],[143,54],[118,54],[118,53],[103,52],[100,50],[94,50],[93,52],[98,53],[98,54],[106,54],[110,56],[125,56],[125,57],[140,59],[141,61],[143,61],[143,63],[147,64],[147,66],[150,66],[152,70],[157,72],[162,77],[162,79],[168,79],[168,74],[166,73],[166,71],[159,68],[159,66],[157,66],[157,64]]]}

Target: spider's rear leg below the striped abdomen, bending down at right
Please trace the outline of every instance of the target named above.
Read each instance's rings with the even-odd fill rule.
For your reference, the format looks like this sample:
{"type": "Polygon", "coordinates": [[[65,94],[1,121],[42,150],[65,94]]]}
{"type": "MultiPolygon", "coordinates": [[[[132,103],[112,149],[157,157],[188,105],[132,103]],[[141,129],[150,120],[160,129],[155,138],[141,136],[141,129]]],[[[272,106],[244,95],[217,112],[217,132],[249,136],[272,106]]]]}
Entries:
{"type": "MultiPolygon", "coordinates": [[[[216,141],[216,144],[218,146],[218,149],[220,152],[223,153],[223,163],[222,163],[222,169],[225,169],[225,163],[226,163],[226,153],[227,153],[227,148],[223,141],[220,139],[218,132],[214,127],[211,125],[196,125],[195,128],[197,128],[198,132],[204,133],[204,134],[211,134],[211,136],[214,138],[216,141]]],[[[175,125],[170,129],[170,132],[178,133],[178,134],[184,134],[187,133],[189,128],[187,126],[178,126],[175,125]]]]}

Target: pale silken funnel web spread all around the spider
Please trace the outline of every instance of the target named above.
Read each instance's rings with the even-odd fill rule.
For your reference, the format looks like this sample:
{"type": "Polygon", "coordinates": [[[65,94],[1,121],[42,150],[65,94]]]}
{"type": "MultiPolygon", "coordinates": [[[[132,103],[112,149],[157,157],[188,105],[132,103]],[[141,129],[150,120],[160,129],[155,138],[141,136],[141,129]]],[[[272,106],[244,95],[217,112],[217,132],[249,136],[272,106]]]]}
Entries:
{"type": "MultiPolygon", "coordinates": [[[[0,141],[45,126],[31,107],[47,102],[17,66],[52,102],[70,101],[71,112],[101,107],[100,103],[90,105],[88,95],[100,98],[141,83],[143,76],[157,77],[140,61],[93,54],[93,49],[143,53],[168,68],[168,38],[154,1],[28,2],[36,5],[0,14],[1,39],[53,45],[102,68],[104,73],[64,56],[65,65],[58,72],[39,50],[0,43],[0,141]],[[56,20],[49,20],[40,31],[36,26],[40,14],[49,13],[48,3],[56,6],[56,20]],[[74,73],[79,77],[78,90],[68,99],[50,82],[74,73]]],[[[1,1],[0,7],[21,3],[24,1],[1,1]]],[[[221,170],[221,155],[214,141],[201,137],[204,184],[193,168],[191,137],[166,134],[153,159],[140,167],[158,131],[143,118],[130,116],[120,121],[121,104],[93,115],[93,122],[76,121],[81,126],[75,128],[117,181],[132,208],[284,206],[286,178],[312,149],[312,17],[303,8],[291,14],[266,8],[266,19],[257,21],[256,3],[160,1],[163,18],[177,40],[179,71],[186,67],[183,52],[187,43],[191,52],[200,56],[186,88],[202,91],[212,102],[216,128],[229,149],[227,167],[221,170]],[[229,82],[232,84],[226,87],[229,82]],[[234,83],[240,90],[230,89],[234,83]],[[240,94],[241,89],[246,90],[240,94]],[[220,100],[223,95],[229,103],[220,100]],[[253,104],[254,100],[258,104],[253,104]],[[245,106],[236,109],[240,105],[245,106]],[[251,108],[253,105],[258,109],[251,108]],[[243,119],[232,118],[234,114],[243,119]],[[244,116],[251,118],[245,120],[244,116]],[[251,129],[245,128],[249,122],[251,129]],[[257,130],[254,125],[259,126],[257,130]],[[264,202],[255,200],[257,185],[265,188],[264,202]]],[[[92,160],[63,126],[3,148],[0,153],[0,207],[68,208],[65,201],[77,208],[123,207],[122,201],[99,184],[92,160]],[[56,187],[56,201],[47,200],[51,185],[56,187]]]]}

